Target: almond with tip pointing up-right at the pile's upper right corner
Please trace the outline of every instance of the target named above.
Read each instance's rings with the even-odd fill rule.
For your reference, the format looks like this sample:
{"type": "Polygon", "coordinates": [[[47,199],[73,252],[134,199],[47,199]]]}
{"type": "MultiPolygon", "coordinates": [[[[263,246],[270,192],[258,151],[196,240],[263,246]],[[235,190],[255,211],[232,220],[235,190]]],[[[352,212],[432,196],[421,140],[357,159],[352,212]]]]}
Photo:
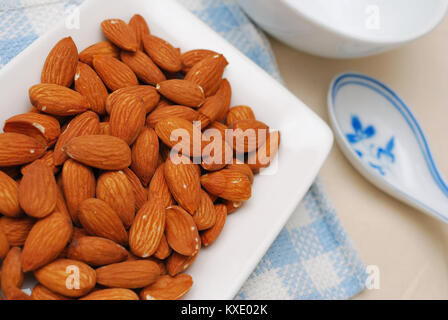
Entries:
{"type": "Polygon", "coordinates": [[[192,81],[204,89],[206,97],[212,96],[218,90],[225,67],[228,65],[223,55],[208,56],[195,64],[185,76],[185,80],[192,81]]]}

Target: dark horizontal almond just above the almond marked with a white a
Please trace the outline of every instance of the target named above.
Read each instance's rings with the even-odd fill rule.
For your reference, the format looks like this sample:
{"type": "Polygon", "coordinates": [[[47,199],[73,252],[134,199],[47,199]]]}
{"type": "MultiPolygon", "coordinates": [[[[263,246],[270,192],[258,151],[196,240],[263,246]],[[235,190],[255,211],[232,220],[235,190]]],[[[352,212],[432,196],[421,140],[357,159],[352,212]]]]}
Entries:
{"type": "Polygon", "coordinates": [[[67,251],[67,258],[82,261],[93,267],[100,267],[126,260],[125,248],[112,240],[100,237],[82,237],[73,240],[67,251]]]}

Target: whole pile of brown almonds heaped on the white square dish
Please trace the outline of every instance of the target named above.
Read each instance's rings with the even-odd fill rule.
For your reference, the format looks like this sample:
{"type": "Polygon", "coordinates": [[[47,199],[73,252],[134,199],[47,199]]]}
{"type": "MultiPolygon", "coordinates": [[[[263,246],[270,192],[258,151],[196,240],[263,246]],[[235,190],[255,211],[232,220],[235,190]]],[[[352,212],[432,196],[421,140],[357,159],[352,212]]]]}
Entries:
{"type": "Polygon", "coordinates": [[[101,28],[107,40],[79,54],[70,37],[53,47],[32,109],[0,134],[6,299],[183,297],[193,284],[183,272],[277,153],[278,131],[230,108],[222,54],[181,53],[140,15],[101,28]],[[212,142],[222,149],[205,155],[212,142]],[[26,273],[38,281],[31,296],[26,273]]]}

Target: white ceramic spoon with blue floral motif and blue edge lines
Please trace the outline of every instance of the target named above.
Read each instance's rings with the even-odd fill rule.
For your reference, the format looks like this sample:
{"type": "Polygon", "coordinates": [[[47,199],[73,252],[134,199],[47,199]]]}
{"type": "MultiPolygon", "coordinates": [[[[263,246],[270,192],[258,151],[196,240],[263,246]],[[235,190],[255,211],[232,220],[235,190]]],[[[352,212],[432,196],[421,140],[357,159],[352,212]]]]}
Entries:
{"type": "Polygon", "coordinates": [[[448,187],[422,128],[388,86],[359,73],[337,76],[328,111],[336,141],[370,182],[448,223],[448,187]]]}

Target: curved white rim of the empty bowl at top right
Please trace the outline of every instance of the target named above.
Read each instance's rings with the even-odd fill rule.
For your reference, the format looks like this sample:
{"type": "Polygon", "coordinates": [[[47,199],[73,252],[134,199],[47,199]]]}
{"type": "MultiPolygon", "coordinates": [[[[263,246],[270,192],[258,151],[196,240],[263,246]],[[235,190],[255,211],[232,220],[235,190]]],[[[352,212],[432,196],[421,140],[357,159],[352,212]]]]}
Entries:
{"type": "Polygon", "coordinates": [[[347,38],[350,40],[360,41],[363,43],[375,44],[375,45],[392,45],[392,44],[400,44],[400,43],[410,42],[410,41],[416,40],[416,39],[426,35],[427,33],[431,32],[432,30],[434,30],[442,22],[443,18],[445,17],[445,15],[448,12],[448,0],[440,0],[440,1],[443,5],[443,10],[440,10],[440,14],[437,15],[433,19],[431,24],[424,30],[422,30],[420,32],[416,32],[416,33],[411,33],[410,35],[407,35],[407,36],[397,37],[396,39],[376,39],[376,38],[372,38],[369,36],[356,35],[351,32],[344,31],[342,29],[334,28],[330,24],[323,23],[323,22],[319,21],[313,15],[306,13],[304,11],[301,11],[295,6],[292,6],[288,0],[280,0],[280,2],[283,3],[283,5],[285,5],[288,9],[294,11],[294,13],[299,15],[302,19],[304,19],[304,20],[308,21],[309,23],[314,24],[320,28],[325,29],[325,31],[327,31],[331,34],[337,35],[339,37],[344,37],[344,38],[347,38]]]}

